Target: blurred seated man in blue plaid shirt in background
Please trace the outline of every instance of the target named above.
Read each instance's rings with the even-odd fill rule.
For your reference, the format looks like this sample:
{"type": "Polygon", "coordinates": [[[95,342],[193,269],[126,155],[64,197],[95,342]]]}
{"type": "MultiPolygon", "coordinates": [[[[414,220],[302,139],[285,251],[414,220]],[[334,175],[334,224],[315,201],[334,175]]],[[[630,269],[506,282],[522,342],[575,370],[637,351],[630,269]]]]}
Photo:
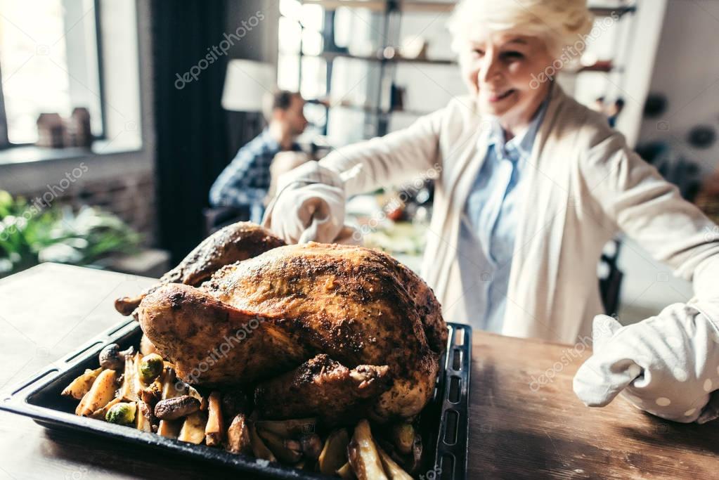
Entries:
{"type": "Polygon", "coordinates": [[[267,101],[267,128],[244,145],[210,188],[213,207],[248,211],[260,223],[270,189],[270,165],[280,152],[301,152],[296,138],[307,126],[299,93],[278,91],[267,101]]]}

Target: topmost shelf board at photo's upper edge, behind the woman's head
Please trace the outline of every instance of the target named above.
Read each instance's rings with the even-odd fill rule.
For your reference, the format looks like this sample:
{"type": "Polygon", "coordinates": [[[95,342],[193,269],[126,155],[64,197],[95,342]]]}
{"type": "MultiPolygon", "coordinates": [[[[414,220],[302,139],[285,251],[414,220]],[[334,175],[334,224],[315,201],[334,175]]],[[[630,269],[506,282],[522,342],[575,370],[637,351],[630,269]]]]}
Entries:
{"type": "MultiPolygon", "coordinates": [[[[394,1],[386,0],[303,0],[303,4],[319,5],[329,10],[336,10],[339,7],[352,9],[369,9],[372,11],[426,11],[426,12],[447,12],[454,9],[454,2],[443,1],[394,1]]],[[[590,11],[597,17],[609,17],[613,12],[623,17],[626,14],[636,12],[636,6],[590,6],[590,11]]]]}

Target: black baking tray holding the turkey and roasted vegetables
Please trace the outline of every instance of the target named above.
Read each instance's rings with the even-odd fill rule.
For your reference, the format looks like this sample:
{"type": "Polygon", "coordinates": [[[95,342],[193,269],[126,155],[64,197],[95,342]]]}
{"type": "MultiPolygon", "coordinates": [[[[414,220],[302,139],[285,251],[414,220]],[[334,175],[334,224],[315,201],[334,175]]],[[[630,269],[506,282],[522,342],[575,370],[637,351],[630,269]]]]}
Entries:
{"type": "MultiPolygon", "coordinates": [[[[459,323],[448,323],[448,328],[449,340],[444,358],[441,359],[434,397],[421,412],[420,425],[426,453],[416,473],[418,478],[467,478],[472,328],[459,323]],[[434,455],[427,452],[433,452],[434,455]]],[[[97,356],[104,346],[118,343],[123,349],[130,345],[137,347],[141,336],[137,321],[124,320],[73,354],[45,367],[26,382],[1,392],[0,410],[31,417],[47,428],[81,430],[83,433],[157,448],[185,458],[209,461],[247,474],[277,479],[330,478],[279,463],[234,455],[221,448],[184,443],[155,433],[75,415],[78,400],[61,396],[63,388],[85,369],[97,368],[97,356]]]]}

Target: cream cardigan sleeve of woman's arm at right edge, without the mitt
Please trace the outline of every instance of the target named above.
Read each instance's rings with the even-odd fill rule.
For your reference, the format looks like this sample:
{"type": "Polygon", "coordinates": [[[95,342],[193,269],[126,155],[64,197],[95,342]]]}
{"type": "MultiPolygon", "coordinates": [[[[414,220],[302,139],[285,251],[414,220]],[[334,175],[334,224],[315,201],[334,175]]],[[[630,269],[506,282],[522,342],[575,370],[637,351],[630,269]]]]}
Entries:
{"type": "Polygon", "coordinates": [[[719,234],[697,206],[632,152],[617,132],[591,147],[581,165],[587,188],[606,217],[652,257],[693,280],[700,300],[719,302],[719,234]]]}

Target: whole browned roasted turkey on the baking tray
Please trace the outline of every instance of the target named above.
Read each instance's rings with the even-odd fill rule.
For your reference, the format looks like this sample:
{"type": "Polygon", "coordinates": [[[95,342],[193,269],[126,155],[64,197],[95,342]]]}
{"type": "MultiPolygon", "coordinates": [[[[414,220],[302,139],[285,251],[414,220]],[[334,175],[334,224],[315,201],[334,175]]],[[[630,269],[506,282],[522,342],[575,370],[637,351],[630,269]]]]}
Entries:
{"type": "MultiPolygon", "coordinates": [[[[278,243],[242,226],[250,228],[265,245],[278,243]]],[[[331,424],[409,419],[429,402],[446,325],[431,289],[392,257],[310,243],[214,269],[197,287],[150,289],[136,310],[186,382],[243,385],[263,417],[331,424]]]]}

